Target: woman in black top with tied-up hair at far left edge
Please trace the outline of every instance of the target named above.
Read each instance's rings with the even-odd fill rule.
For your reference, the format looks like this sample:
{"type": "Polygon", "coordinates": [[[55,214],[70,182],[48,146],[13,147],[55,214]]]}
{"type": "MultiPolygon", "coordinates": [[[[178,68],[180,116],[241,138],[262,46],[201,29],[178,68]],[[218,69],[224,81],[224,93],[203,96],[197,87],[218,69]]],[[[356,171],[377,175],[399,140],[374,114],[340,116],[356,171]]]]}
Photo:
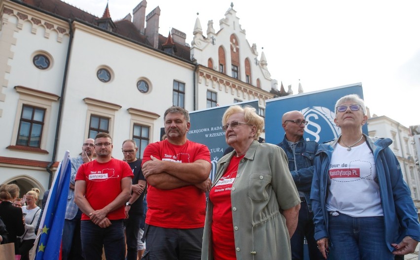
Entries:
{"type": "Polygon", "coordinates": [[[9,233],[8,242],[15,243],[15,254],[19,254],[17,236],[25,232],[22,209],[13,206],[13,201],[19,196],[19,191],[19,186],[16,184],[0,186],[0,217],[9,233]]]}

